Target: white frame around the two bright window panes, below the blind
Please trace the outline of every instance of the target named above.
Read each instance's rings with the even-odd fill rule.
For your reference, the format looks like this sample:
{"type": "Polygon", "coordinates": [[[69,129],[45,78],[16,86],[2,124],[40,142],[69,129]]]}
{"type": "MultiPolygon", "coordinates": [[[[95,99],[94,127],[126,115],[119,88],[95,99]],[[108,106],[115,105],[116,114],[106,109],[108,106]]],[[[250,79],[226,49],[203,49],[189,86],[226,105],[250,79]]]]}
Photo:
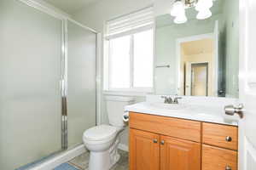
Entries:
{"type": "Polygon", "coordinates": [[[143,27],[142,29],[140,29],[139,31],[135,31],[131,34],[126,34],[124,33],[123,35],[119,35],[119,37],[125,37],[125,36],[131,36],[130,38],[130,87],[129,88],[111,88],[110,84],[110,75],[111,75],[111,62],[110,62],[110,56],[111,56],[111,50],[110,50],[110,40],[105,40],[105,45],[106,47],[108,47],[108,49],[105,48],[105,56],[104,56],[104,92],[106,92],[107,94],[109,92],[134,92],[134,93],[154,93],[154,45],[155,45],[155,25],[153,26],[148,26],[148,27],[143,27]],[[133,86],[133,81],[134,81],[134,34],[142,32],[142,31],[148,31],[148,30],[152,30],[153,31],[153,63],[152,63],[152,68],[153,68],[153,75],[152,75],[152,88],[135,88],[133,86]]]}

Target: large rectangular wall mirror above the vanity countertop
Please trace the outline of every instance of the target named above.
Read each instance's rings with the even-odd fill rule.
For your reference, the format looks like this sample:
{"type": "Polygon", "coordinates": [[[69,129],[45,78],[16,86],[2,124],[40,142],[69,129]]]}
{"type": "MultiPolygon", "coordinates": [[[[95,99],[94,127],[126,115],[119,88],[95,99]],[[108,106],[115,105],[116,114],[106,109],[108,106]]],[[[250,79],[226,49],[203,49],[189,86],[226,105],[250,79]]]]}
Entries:
{"type": "Polygon", "coordinates": [[[183,24],[171,14],[156,17],[156,94],[238,98],[239,1],[215,0],[210,11],[198,20],[186,7],[183,24]]]}

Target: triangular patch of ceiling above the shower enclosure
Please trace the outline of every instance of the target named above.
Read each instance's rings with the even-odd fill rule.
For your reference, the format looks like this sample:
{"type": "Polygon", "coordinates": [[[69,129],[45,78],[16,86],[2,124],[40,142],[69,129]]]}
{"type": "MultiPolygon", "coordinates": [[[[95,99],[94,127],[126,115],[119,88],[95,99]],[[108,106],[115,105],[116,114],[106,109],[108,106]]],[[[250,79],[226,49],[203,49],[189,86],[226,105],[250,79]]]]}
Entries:
{"type": "Polygon", "coordinates": [[[96,3],[100,0],[44,0],[46,3],[49,3],[56,8],[60,8],[68,14],[73,14],[79,9],[84,8],[90,3],[96,3]]]}

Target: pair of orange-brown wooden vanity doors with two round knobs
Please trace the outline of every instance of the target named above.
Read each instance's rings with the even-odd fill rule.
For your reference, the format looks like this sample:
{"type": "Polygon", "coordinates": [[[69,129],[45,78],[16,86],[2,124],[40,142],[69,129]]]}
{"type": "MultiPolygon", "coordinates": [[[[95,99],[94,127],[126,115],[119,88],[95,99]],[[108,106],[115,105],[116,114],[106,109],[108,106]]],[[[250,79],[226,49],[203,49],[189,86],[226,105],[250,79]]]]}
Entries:
{"type": "Polygon", "coordinates": [[[130,129],[130,170],[200,170],[201,145],[130,129]]]}

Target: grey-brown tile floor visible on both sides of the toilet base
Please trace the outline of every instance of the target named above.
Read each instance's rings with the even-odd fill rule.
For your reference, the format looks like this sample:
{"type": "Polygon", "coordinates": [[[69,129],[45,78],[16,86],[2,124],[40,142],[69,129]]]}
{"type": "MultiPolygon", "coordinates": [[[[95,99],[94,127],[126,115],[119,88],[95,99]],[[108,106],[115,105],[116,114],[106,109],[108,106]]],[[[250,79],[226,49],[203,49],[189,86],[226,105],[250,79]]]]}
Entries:
{"type": "MultiPolygon", "coordinates": [[[[128,152],[125,152],[123,150],[119,150],[119,154],[120,154],[120,159],[117,162],[117,164],[115,164],[111,170],[128,170],[128,152]]],[[[68,161],[67,163],[73,167],[75,167],[74,169],[79,169],[79,170],[88,170],[88,166],[89,166],[89,152],[85,152],[84,154],[82,154],[81,156],[77,156],[75,157],[73,160],[68,161]]],[[[61,170],[56,169],[56,170],[61,170]]],[[[63,169],[65,170],[65,169],[63,169]]],[[[73,169],[72,169],[73,170],[73,169]]]]}

